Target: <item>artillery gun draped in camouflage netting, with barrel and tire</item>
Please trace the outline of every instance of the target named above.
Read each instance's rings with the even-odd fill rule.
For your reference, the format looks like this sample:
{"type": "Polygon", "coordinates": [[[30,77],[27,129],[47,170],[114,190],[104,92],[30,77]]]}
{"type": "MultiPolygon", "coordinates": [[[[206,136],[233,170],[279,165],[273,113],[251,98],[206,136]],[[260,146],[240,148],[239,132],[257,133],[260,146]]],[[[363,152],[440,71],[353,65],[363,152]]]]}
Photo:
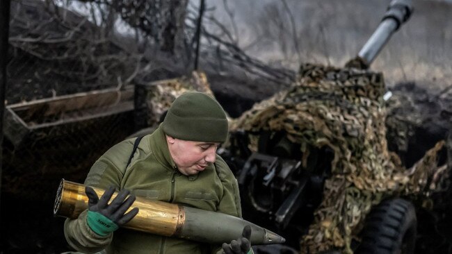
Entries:
{"type": "Polygon", "coordinates": [[[232,120],[219,153],[235,171],[245,219],[301,253],[414,253],[407,198],[432,191],[443,144],[404,169],[387,149],[382,74],[368,70],[411,14],[411,1],[392,1],[344,68],[303,64],[288,90],[232,120]]]}

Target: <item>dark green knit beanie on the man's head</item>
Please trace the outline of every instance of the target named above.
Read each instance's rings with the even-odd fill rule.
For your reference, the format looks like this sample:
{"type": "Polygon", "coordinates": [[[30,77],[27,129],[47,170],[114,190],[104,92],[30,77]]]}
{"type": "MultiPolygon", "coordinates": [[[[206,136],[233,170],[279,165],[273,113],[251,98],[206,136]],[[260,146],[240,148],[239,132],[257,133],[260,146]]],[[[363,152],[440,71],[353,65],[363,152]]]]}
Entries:
{"type": "Polygon", "coordinates": [[[198,142],[225,142],[228,132],[220,103],[202,92],[186,92],[177,97],[162,128],[171,137],[198,142]]]}

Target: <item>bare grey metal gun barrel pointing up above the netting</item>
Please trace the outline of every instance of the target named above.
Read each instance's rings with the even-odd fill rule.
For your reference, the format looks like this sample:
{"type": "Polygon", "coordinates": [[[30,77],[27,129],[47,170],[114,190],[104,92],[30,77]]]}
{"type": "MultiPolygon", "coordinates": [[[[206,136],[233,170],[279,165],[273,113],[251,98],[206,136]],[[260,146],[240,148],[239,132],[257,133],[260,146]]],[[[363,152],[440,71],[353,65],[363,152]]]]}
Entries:
{"type": "Polygon", "coordinates": [[[387,44],[392,34],[395,33],[402,24],[407,22],[413,12],[411,0],[393,0],[388,8],[385,16],[380,22],[376,31],[371,35],[369,40],[364,44],[358,58],[362,61],[364,68],[369,68],[383,46],[387,44]]]}

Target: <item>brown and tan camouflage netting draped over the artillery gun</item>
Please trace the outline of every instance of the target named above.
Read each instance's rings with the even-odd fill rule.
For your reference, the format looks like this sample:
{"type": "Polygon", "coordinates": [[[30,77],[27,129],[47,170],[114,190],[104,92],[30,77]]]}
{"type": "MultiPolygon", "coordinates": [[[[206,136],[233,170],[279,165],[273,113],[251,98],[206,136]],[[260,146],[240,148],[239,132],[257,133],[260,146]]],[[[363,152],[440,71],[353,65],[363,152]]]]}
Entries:
{"type": "Polygon", "coordinates": [[[302,253],[332,248],[353,253],[350,244],[372,205],[390,196],[428,196],[434,180],[446,172],[436,163],[443,142],[410,170],[388,151],[384,92],[379,73],[302,65],[288,90],[232,121],[232,131],[285,131],[292,142],[301,144],[303,164],[310,147],[334,151],[332,177],[325,181],[323,201],[302,239],[302,253]]]}

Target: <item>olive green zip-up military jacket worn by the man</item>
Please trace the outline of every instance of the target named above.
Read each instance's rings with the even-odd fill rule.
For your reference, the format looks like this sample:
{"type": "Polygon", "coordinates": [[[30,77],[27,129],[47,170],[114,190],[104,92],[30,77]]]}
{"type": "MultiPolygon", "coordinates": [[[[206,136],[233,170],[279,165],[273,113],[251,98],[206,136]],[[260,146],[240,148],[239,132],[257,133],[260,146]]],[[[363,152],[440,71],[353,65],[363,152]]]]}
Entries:
{"type": "MultiPolygon", "coordinates": [[[[133,146],[134,139],[127,139],[104,153],[92,165],[85,185],[102,189],[114,185],[118,191],[129,189],[136,196],[241,217],[236,178],[219,155],[215,164],[210,163],[204,171],[184,176],[170,156],[161,128],[141,139],[127,166],[133,146]]],[[[86,215],[84,211],[78,219],[67,219],[64,228],[67,242],[83,253],[106,249],[107,253],[118,254],[196,254],[216,253],[220,249],[220,246],[125,228],[101,237],[89,228],[86,215]]]]}

